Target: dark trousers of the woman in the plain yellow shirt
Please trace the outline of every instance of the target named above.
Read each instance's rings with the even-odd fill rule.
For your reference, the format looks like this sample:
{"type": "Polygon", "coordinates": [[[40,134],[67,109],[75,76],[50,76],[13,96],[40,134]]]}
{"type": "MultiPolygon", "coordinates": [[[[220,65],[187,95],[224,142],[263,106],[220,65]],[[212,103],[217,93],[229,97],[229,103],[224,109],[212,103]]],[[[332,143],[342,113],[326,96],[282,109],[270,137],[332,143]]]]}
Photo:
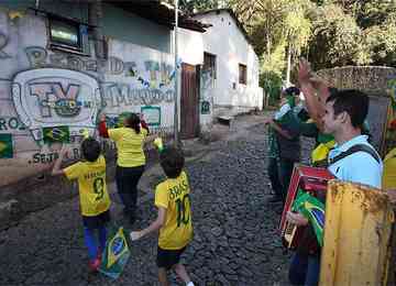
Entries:
{"type": "Polygon", "coordinates": [[[116,169],[116,184],[124,210],[131,217],[135,216],[138,202],[138,183],[142,177],[144,166],[120,167],[116,169]]]}

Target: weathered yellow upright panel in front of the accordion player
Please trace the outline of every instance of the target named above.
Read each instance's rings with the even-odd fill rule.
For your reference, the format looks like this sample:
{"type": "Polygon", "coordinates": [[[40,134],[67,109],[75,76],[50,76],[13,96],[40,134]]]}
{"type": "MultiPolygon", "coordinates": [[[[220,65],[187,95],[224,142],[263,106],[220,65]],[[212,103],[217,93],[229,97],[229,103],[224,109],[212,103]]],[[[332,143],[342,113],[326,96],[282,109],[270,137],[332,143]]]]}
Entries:
{"type": "Polygon", "coordinates": [[[385,285],[393,221],[385,193],[330,182],[320,285],[385,285]]]}

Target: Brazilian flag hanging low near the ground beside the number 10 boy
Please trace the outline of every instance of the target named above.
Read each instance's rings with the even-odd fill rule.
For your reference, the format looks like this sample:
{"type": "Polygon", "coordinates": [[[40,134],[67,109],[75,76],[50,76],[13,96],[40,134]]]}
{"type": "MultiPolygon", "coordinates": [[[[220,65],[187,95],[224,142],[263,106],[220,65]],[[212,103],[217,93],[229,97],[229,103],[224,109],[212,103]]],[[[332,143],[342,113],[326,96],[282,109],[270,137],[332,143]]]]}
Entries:
{"type": "Polygon", "coordinates": [[[99,272],[117,279],[120,277],[130,257],[123,228],[119,228],[114,235],[110,237],[102,253],[99,272]]]}

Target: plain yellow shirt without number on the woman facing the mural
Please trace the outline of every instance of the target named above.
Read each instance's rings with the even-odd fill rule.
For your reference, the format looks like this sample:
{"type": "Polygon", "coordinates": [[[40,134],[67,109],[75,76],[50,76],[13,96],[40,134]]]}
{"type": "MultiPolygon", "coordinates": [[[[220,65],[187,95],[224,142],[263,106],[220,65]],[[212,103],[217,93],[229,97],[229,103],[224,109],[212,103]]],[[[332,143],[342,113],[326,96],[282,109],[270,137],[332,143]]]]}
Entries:
{"type": "Polygon", "coordinates": [[[130,128],[109,129],[109,138],[116,142],[118,150],[117,165],[120,167],[138,167],[145,164],[143,152],[144,139],[147,136],[147,130],[141,128],[136,134],[130,128]]]}

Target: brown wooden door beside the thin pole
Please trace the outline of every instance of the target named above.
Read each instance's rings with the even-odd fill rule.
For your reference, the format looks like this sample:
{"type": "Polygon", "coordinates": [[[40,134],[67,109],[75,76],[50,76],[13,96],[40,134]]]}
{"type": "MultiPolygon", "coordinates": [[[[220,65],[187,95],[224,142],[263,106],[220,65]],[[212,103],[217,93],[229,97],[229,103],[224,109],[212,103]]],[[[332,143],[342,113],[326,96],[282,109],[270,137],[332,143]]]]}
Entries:
{"type": "Polygon", "coordinates": [[[197,67],[182,64],[180,136],[196,138],[199,133],[199,78],[197,67]]]}

